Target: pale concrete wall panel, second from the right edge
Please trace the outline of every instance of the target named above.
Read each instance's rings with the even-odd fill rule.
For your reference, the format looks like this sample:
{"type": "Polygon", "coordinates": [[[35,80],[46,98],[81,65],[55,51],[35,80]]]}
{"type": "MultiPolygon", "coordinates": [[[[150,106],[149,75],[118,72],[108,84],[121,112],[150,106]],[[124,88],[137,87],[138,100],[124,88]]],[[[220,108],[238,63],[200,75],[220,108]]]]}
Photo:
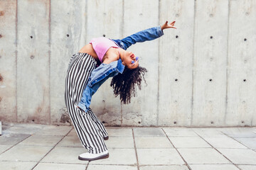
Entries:
{"type": "Polygon", "coordinates": [[[226,103],[228,0],[196,1],[191,125],[223,125],[226,103]]]}

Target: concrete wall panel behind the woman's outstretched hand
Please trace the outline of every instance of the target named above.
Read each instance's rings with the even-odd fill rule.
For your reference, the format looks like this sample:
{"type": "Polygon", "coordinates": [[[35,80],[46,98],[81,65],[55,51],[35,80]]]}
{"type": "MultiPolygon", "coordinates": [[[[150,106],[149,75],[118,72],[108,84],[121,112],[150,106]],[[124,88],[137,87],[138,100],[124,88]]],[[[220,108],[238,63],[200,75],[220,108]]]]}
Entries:
{"type": "Polygon", "coordinates": [[[159,40],[158,125],[190,125],[194,1],[161,1],[160,22],[176,21],[159,40]]]}

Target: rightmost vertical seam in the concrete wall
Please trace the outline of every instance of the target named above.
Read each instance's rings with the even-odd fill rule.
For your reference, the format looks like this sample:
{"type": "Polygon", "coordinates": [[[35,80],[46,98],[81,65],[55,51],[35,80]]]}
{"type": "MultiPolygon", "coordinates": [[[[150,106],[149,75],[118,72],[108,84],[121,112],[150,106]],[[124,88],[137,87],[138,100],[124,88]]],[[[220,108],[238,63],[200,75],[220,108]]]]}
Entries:
{"type": "Polygon", "coordinates": [[[228,0],[228,33],[227,33],[227,57],[226,57],[226,95],[225,95],[225,115],[224,115],[224,122],[226,122],[226,117],[228,113],[228,48],[229,48],[229,24],[230,24],[230,1],[228,0]]]}

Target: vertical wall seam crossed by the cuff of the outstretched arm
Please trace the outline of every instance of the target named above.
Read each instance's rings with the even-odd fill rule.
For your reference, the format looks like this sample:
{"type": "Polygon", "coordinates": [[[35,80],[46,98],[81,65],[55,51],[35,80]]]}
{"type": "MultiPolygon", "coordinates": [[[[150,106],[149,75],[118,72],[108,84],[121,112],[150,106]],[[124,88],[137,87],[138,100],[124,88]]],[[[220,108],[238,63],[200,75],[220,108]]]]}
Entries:
{"type": "MultiPolygon", "coordinates": [[[[159,0],[159,13],[158,13],[158,17],[159,17],[159,25],[160,25],[160,3],[161,0],[159,0]]],[[[159,62],[160,62],[160,40],[158,40],[159,44],[158,44],[158,61],[157,61],[157,98],[156,98],[156,126],[159,125],[159,81],[160,81],[160,68],[159,68],[159,62]]]]}

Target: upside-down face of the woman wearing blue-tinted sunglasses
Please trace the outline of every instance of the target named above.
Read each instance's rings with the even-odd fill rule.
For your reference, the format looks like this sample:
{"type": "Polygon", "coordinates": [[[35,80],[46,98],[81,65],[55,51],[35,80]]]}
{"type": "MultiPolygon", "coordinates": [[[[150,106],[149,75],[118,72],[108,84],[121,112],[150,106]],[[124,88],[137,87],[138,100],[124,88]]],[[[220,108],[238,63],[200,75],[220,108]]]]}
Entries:
{"type": "Polygon", "coordinates": [[[119,52],[122,64],[128,69],[136,69],[139,66],[139,57],[136,57],[132,52],[122,50],[119,52]]]}

